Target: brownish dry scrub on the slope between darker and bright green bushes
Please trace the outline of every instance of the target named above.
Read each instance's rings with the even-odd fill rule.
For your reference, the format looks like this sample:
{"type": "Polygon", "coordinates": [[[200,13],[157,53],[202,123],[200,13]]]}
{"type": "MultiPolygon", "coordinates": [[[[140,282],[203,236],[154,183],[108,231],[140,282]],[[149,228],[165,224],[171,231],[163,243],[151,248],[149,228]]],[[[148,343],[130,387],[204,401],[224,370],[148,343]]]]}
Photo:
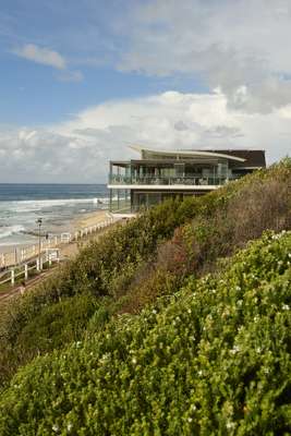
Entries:
{"type": "Polygon", "coordinates": [[[155,262],[137,269],[124,310],[136,312],[145,302],[170,293],[169,282],[179,287],[191,274],[219,268],[221,258],[266,229],[291,229],[290,186],[291,161],[287,159],[199,198],[195,216],[158,246],[155,262]]]}

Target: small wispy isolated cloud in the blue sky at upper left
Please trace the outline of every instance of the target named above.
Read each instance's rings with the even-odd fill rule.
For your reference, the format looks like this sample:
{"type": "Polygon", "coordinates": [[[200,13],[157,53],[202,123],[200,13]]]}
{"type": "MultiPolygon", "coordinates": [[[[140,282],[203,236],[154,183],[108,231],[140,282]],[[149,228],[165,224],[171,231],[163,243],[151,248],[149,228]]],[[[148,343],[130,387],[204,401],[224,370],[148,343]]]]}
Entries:
{"type": "Polygon", "coordinates": [[[66,68],[65,59],[60,53],[48,48],[38,47],[34,44],[26,44],[21,48],[14,49],[13,52],[21,58],[53,66],[58,70],[64,70],[66,68]]]}

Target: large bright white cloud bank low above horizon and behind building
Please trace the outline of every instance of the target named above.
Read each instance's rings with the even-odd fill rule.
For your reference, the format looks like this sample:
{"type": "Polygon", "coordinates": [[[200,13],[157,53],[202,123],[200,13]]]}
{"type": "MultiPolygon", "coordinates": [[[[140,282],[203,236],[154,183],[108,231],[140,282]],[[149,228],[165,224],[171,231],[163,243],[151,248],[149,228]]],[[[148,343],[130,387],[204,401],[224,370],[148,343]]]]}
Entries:
{"type": "Polygon", "coordinates": [[[232,110],[227,96],[168,92],[92,107],[43,129],[0,130],[0,182],[106,182],[110,159],[156,148],[264,148],[271,162],[291,150],[291,106],[272,113],[232,110]],[[2,160],[1,160],[2,162],[2,160]]]}

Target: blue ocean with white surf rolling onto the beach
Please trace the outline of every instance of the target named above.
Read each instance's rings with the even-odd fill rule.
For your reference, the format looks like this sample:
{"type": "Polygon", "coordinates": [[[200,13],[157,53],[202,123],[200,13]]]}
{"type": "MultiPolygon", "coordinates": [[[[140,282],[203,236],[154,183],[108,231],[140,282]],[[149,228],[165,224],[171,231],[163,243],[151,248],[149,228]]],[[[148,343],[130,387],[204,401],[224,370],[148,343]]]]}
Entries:
{"type": "Polygon", "coordinates": [[[58,234],[74,218],[108,207],[105,184],[5,184],[0,183],[0,250],[29,244],[36,220],[43,232],[58,234]]]}

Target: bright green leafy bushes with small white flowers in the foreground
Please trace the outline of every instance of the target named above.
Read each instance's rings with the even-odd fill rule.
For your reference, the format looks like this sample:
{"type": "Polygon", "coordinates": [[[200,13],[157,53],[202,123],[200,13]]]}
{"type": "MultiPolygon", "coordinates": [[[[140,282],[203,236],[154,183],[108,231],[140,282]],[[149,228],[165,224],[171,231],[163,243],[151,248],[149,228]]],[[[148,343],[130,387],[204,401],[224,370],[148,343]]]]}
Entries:
{"type": "Polygon", "coordinates": [[[279,435],[291,431],[291,232],[140,316],[36,359],[3,392],[2,435],[279,435]]]}

